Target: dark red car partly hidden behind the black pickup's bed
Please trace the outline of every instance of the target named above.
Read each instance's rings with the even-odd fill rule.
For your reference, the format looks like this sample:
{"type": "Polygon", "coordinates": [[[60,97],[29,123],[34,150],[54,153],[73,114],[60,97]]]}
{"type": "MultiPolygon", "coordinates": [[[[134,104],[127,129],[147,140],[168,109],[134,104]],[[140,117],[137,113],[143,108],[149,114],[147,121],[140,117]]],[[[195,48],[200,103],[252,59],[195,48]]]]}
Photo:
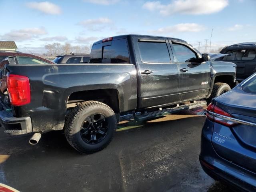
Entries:
{"type": "Polygon", "coordinates": [[[8,52],[0,51],[0,92],[4,93],[7,91],[6,86],[6,70],[4,65],[6,64],[6,58],[14,57],[16,64],[54,64],[54,62],[44,59],[42,57],[22,53],[22,52],[8,52]]]}

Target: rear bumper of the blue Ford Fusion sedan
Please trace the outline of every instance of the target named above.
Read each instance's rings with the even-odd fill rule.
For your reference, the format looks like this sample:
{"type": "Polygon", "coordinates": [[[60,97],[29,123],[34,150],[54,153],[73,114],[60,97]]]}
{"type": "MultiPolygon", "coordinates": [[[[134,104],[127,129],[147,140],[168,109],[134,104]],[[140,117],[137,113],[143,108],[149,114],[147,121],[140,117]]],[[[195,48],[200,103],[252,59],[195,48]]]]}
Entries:
{"type": "Polygon", "coordinates": [[[200,164],[210,177],[226,182],[239,191],[256,191],[256,173],[220,157],[211,142],[214,123],[206,119],[202,129],[200,164]]]}

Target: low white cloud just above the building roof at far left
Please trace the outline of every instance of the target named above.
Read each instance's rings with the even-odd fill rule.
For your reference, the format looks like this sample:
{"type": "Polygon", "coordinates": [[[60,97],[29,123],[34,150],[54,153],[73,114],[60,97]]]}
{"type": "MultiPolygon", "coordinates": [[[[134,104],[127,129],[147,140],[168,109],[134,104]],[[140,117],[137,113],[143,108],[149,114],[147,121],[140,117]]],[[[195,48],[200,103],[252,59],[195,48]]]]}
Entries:
{"type": "Polygon", "coordinates": [[[15,40],[15,41],[24,41],[31,40],[40,35],[47,34],[47,31],[44,27],[41,28],[24,28],[20,30],[11,30],[10,32],[0,36],[1,40],[15,40]]]}

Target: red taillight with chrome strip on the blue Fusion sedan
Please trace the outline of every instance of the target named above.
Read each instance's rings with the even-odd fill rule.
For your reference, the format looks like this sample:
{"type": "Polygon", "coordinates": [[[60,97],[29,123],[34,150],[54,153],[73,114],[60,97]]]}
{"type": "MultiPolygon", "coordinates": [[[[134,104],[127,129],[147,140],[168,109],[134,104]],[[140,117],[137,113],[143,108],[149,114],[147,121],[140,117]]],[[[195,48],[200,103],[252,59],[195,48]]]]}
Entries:
{"type": "Polygon", "coordinates": [[[231,121],[227,120],[226,118],[222,118],[222,116],[232,117],[228,112],[224,111],[223,109],[219,108],[218,106],[216,106],[212,103],[207,106],[206,117],[209,120],[212,120],[214,122],[220,123],[225,126],[232,126],[235,124],[234,122],[231,122],[231,121]],[[218,116],[218,115],[220,115],[220,116],[218,116]]]}

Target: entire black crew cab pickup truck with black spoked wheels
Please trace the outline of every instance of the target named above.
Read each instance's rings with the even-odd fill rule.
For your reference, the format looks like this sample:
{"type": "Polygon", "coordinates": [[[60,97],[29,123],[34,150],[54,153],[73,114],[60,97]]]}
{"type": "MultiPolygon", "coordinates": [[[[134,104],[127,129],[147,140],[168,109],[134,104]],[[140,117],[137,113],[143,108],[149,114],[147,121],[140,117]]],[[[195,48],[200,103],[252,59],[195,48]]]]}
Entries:
{"type": "Polygon", "coordinates": [[[0,121],[12,135],[64,129],[80,153],[105,148],[120,116],[146,120],[193,108],[235,86],[236,65],[210,61],[187,42],[124,35],[92,46],[89,64],[7,64],[0,121]],[[184,102],[189,104],[181,105],[184,102]],[[191,102],[191,103],[190,103],[191,102]],[[180,104],[180,105],[177,105],[180,104]]]}

